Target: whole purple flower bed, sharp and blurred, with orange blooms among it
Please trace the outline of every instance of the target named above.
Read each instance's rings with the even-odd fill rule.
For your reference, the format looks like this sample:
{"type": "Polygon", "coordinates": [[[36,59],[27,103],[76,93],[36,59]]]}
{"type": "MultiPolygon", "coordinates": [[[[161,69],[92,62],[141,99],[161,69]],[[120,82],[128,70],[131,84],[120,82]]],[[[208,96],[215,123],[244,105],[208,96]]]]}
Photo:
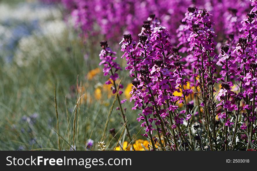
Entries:
{"type": "MultiPolygon", "coordinates": [[[[63,9],[91,51],[88,65],[100,62],[94,72],[103,70],[107,91],[84,87],[95,86],[95,99],[111,99],[94,150],[257,149],[257,0],[41,1],[63,9]],[[112,119],[121,124],[111,129],[112,119]]],[[[76,106],[86,96],[82,87],[74,88],[76,106]]]]}

